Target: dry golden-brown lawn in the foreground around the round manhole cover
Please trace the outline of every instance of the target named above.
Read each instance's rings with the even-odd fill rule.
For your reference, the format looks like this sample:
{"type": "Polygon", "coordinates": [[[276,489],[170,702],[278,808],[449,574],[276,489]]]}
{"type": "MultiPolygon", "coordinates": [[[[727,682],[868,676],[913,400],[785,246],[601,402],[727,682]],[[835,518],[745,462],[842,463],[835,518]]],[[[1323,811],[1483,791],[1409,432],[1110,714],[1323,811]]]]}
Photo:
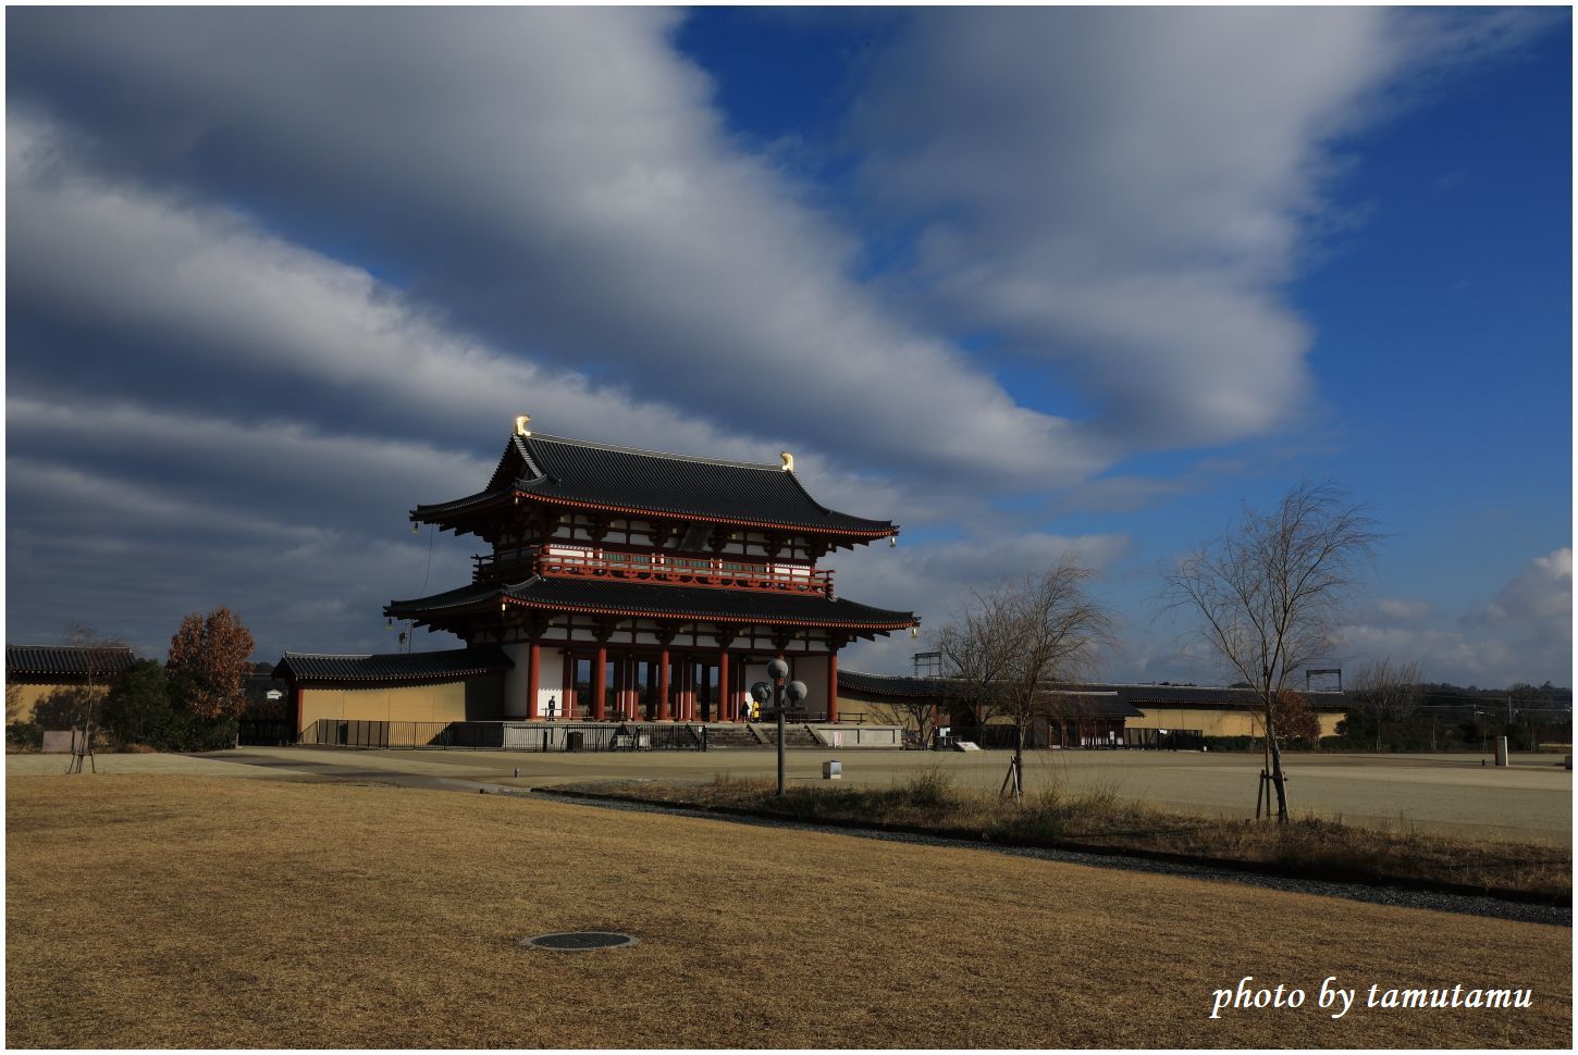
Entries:
{"type": "Polygon", "coordinates": [[[508,796],[6,782],[11,1047],[1567,1047],[1572,932],[508,796]],[[620,929],[626,951],[516,938],[620,929]],[[1307,990],[1532,989],[1528,1009],[1307,990]]]}

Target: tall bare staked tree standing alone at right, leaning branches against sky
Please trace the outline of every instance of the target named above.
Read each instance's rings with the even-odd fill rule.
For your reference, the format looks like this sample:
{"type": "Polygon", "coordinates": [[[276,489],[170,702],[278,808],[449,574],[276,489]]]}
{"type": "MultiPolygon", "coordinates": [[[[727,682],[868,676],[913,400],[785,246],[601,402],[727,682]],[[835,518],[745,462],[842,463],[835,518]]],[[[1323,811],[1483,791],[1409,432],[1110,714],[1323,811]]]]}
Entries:
{"type": "Polygon", "coordinates": [[[1280,823],[1288,823],[1288,784],[1277,697],[1329,651],[1379,541],[1374,520],[1341,487],[1303,481],[1270,513],[1245,506],[1239,524],[1165,576],[1168,607],[1196,617],[1199,640],[1255,689],[1280,823]]]}

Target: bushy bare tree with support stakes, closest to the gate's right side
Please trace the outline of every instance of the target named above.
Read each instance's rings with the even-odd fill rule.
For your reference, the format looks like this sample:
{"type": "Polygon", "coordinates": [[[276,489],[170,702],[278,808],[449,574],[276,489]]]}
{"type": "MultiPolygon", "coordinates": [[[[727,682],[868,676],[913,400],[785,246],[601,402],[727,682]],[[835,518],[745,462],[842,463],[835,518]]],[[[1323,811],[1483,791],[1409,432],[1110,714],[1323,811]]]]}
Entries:
{"type": "Polygon", "coordinates": [[[1024,741],[1049,716],[1056,681],[1079,681],[1112,640],[1112,615],[1086,593],[1094,572],[1067,555],[1040,576],[970,591],[970,604],[937,636],[944,673],[982,721],[1015,729],[1004,790],[1024,795],[1024,741]]]}

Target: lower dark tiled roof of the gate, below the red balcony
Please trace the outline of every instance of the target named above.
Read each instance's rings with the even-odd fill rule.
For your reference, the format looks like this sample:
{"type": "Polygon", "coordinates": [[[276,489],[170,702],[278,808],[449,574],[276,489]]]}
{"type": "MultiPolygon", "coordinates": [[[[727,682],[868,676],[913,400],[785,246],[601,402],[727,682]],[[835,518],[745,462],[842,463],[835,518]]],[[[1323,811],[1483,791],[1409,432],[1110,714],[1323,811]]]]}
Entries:
{"type": "Polygon", "coordinates": [[[473,583],[429,598],[394,601],[385,612],[393,618],[442,615],[461,609],[486,609],[500,601],[559,612],[652,613],[674,618],[726,620],[737,623],[784,623],[800,626],[852,626],[906,629],[918,620],[911,612],[890,612],[854,601],[830,601],[819,593],[772,590],[715,590],[582,579],[543,579],[500,587],[473,583]]]}

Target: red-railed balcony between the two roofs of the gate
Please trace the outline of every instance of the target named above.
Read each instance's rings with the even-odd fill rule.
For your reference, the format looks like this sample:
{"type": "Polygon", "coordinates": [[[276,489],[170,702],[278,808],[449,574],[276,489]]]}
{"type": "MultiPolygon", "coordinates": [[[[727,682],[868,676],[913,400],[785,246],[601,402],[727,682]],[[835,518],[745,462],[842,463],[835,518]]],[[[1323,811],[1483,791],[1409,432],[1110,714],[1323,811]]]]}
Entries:
{"type": "Polygon", "coordinates": [[[709,587],[718,590],[770,590],[778,593],[811,593],[833,596],[832,569],[797,568],[794,571],[764,563],[729,558],[667,557],[664,554],[541,554],[514,550],[472,558],[477,579],[500,576],[544,576],[604,579],[609,582],[650,582],[674,587],[709,587]]]}

